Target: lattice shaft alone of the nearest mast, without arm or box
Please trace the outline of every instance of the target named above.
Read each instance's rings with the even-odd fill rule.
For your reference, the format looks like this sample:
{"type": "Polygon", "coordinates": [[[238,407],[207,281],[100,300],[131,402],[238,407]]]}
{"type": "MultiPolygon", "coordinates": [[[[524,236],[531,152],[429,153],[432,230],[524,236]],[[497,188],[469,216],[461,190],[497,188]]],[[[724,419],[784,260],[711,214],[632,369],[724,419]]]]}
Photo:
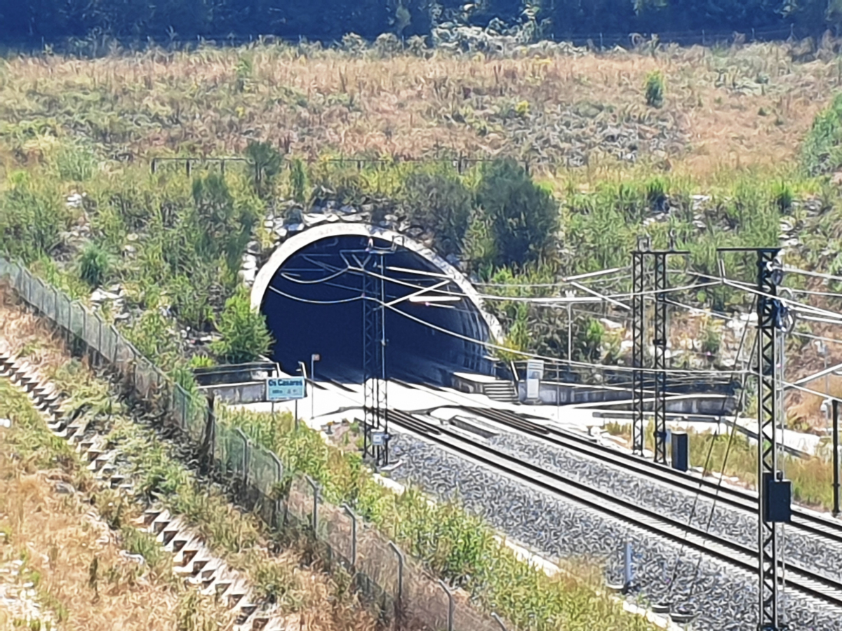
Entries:
{"type": "Polygon", "coordinates": [[[757,335],[758,335],[758,480],[761,484],[758,520],[759,548],[759,624],[761,631],[778,631],[778,587],[781,572],[778,570],[778,550],[775,522],[767,521],[767,481],[777,475],[776,425],[782,412],[778,371],[780,367],[781,303],[776,299],[780,271],[775,269],[780,248],[757,251],[757,335]]]}

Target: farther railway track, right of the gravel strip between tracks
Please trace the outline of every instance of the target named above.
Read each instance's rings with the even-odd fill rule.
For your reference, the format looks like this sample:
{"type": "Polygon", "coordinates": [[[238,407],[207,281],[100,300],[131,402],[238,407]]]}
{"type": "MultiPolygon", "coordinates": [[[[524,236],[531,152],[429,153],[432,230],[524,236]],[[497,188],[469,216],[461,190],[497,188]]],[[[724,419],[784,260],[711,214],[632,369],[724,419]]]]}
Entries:
{"type": "MultiPolygon", "coordinates": [[[[601,462],[619,465],[623,469],[646,475],[650,480],[656,480],[665,485],[698,494],[710,500],[716,500],[739,510],[754,514],[758,511],[757,495],[748,490],[739,490],[726,485],[720,486],[713,480],[697,478],[682,471],[670,469],[663,464],[654,463],[652,460],[642,459],[632,453],[605,447],[573,432],[566,432],[562,429],[532,422],[516,412],[467,406],[461,406],[461,409],[475,416],[483,416],[500,425],[516,429],[553,446],[582,453],[601,462]]],[[[833,517],[823,517],[813,512],[807,512],[799,506],[793,506],[791,526],[805,533],[829,538],[842,544],[842,522],[833,517]]]]}

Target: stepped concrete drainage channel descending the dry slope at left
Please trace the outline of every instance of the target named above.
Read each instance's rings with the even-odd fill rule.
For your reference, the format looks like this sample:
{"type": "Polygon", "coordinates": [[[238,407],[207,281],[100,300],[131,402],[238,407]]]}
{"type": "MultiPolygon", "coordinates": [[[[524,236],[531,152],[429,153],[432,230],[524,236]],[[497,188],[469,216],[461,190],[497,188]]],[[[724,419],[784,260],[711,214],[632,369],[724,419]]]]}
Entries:
{"type": "MultiPolygon", "coordinates": [[[[76,448],[101,487],[117,490],[136,501],[134,485],[115,464],[120,458],[120,450],[106,450],[101,437],[86,437],[87,424],[61,413],[61,395],[51,384],[45,384],[33,367],[0,349],[0,377],[7,377],[29,395],[35,408],[44,416],[47,427],[76,448]]],[[[210,554],[201,538],[178,516],[170,515],[162,507],[150,507],[143,512],[137,525],[154,535],[163,549],[174,555],[173,572],[176,575],[203,593],[217,597],[229,609],[236,609],[235,631],[283,631],[286,628],[280,612],[263,610],[255,602],[248,581],[225,561],[210,554]]]]}

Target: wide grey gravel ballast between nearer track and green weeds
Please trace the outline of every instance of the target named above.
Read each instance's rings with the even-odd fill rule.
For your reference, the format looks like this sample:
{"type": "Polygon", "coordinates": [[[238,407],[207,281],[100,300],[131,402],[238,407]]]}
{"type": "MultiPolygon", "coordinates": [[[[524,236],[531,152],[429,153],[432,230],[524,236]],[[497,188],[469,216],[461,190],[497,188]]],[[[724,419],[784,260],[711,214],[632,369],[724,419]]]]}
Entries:
{"type": "MultiPolygon", "coordinates": [[[[499,438],[498,438],[499,440],[499,438]]],[[[472,463],[417,437],[395,433],[392,478],[433,496],[458,498],[493,528],[549,558],[589,555],[605,561],[607,581],[621,582],[622,554],[632,544],[637,595],[647,602],[669,600],[696,612],[694,631],[755,631],[758,590],[753,574],[681,550],[599,512],[472,463]]],[[[616,476],[616,471],[612,474],[616,476]]],[[[632,598],[634,598],[632,597],[632,598]]],[[[785,620],[801,631],[842,631],[839,612],[822,602],[787,592],[785,620]]]]}

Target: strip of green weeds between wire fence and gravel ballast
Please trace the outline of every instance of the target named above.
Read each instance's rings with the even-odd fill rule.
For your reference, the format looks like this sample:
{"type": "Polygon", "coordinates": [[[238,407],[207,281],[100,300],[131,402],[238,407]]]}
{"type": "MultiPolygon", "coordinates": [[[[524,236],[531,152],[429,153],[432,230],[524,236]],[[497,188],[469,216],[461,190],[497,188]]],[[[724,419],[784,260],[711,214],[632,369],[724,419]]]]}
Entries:
{"type": "Polygon", "coordinates": [[[571,574],[550,578],[499,544],[492,528],[458,502],[430,505],[413,488],[396,496],[373,480],[358,454],[324,443],[307,427],[296,432],[290,414],[222,408],[219,418],[273,450],[286,468],[317,480],[325,500],[337,505],[347,501],[435,575],[463,587],[483,608],[498,612],[518,628],[653,628],[597,594],[604,586],[593,565],[574,560],[571,574]]]}

